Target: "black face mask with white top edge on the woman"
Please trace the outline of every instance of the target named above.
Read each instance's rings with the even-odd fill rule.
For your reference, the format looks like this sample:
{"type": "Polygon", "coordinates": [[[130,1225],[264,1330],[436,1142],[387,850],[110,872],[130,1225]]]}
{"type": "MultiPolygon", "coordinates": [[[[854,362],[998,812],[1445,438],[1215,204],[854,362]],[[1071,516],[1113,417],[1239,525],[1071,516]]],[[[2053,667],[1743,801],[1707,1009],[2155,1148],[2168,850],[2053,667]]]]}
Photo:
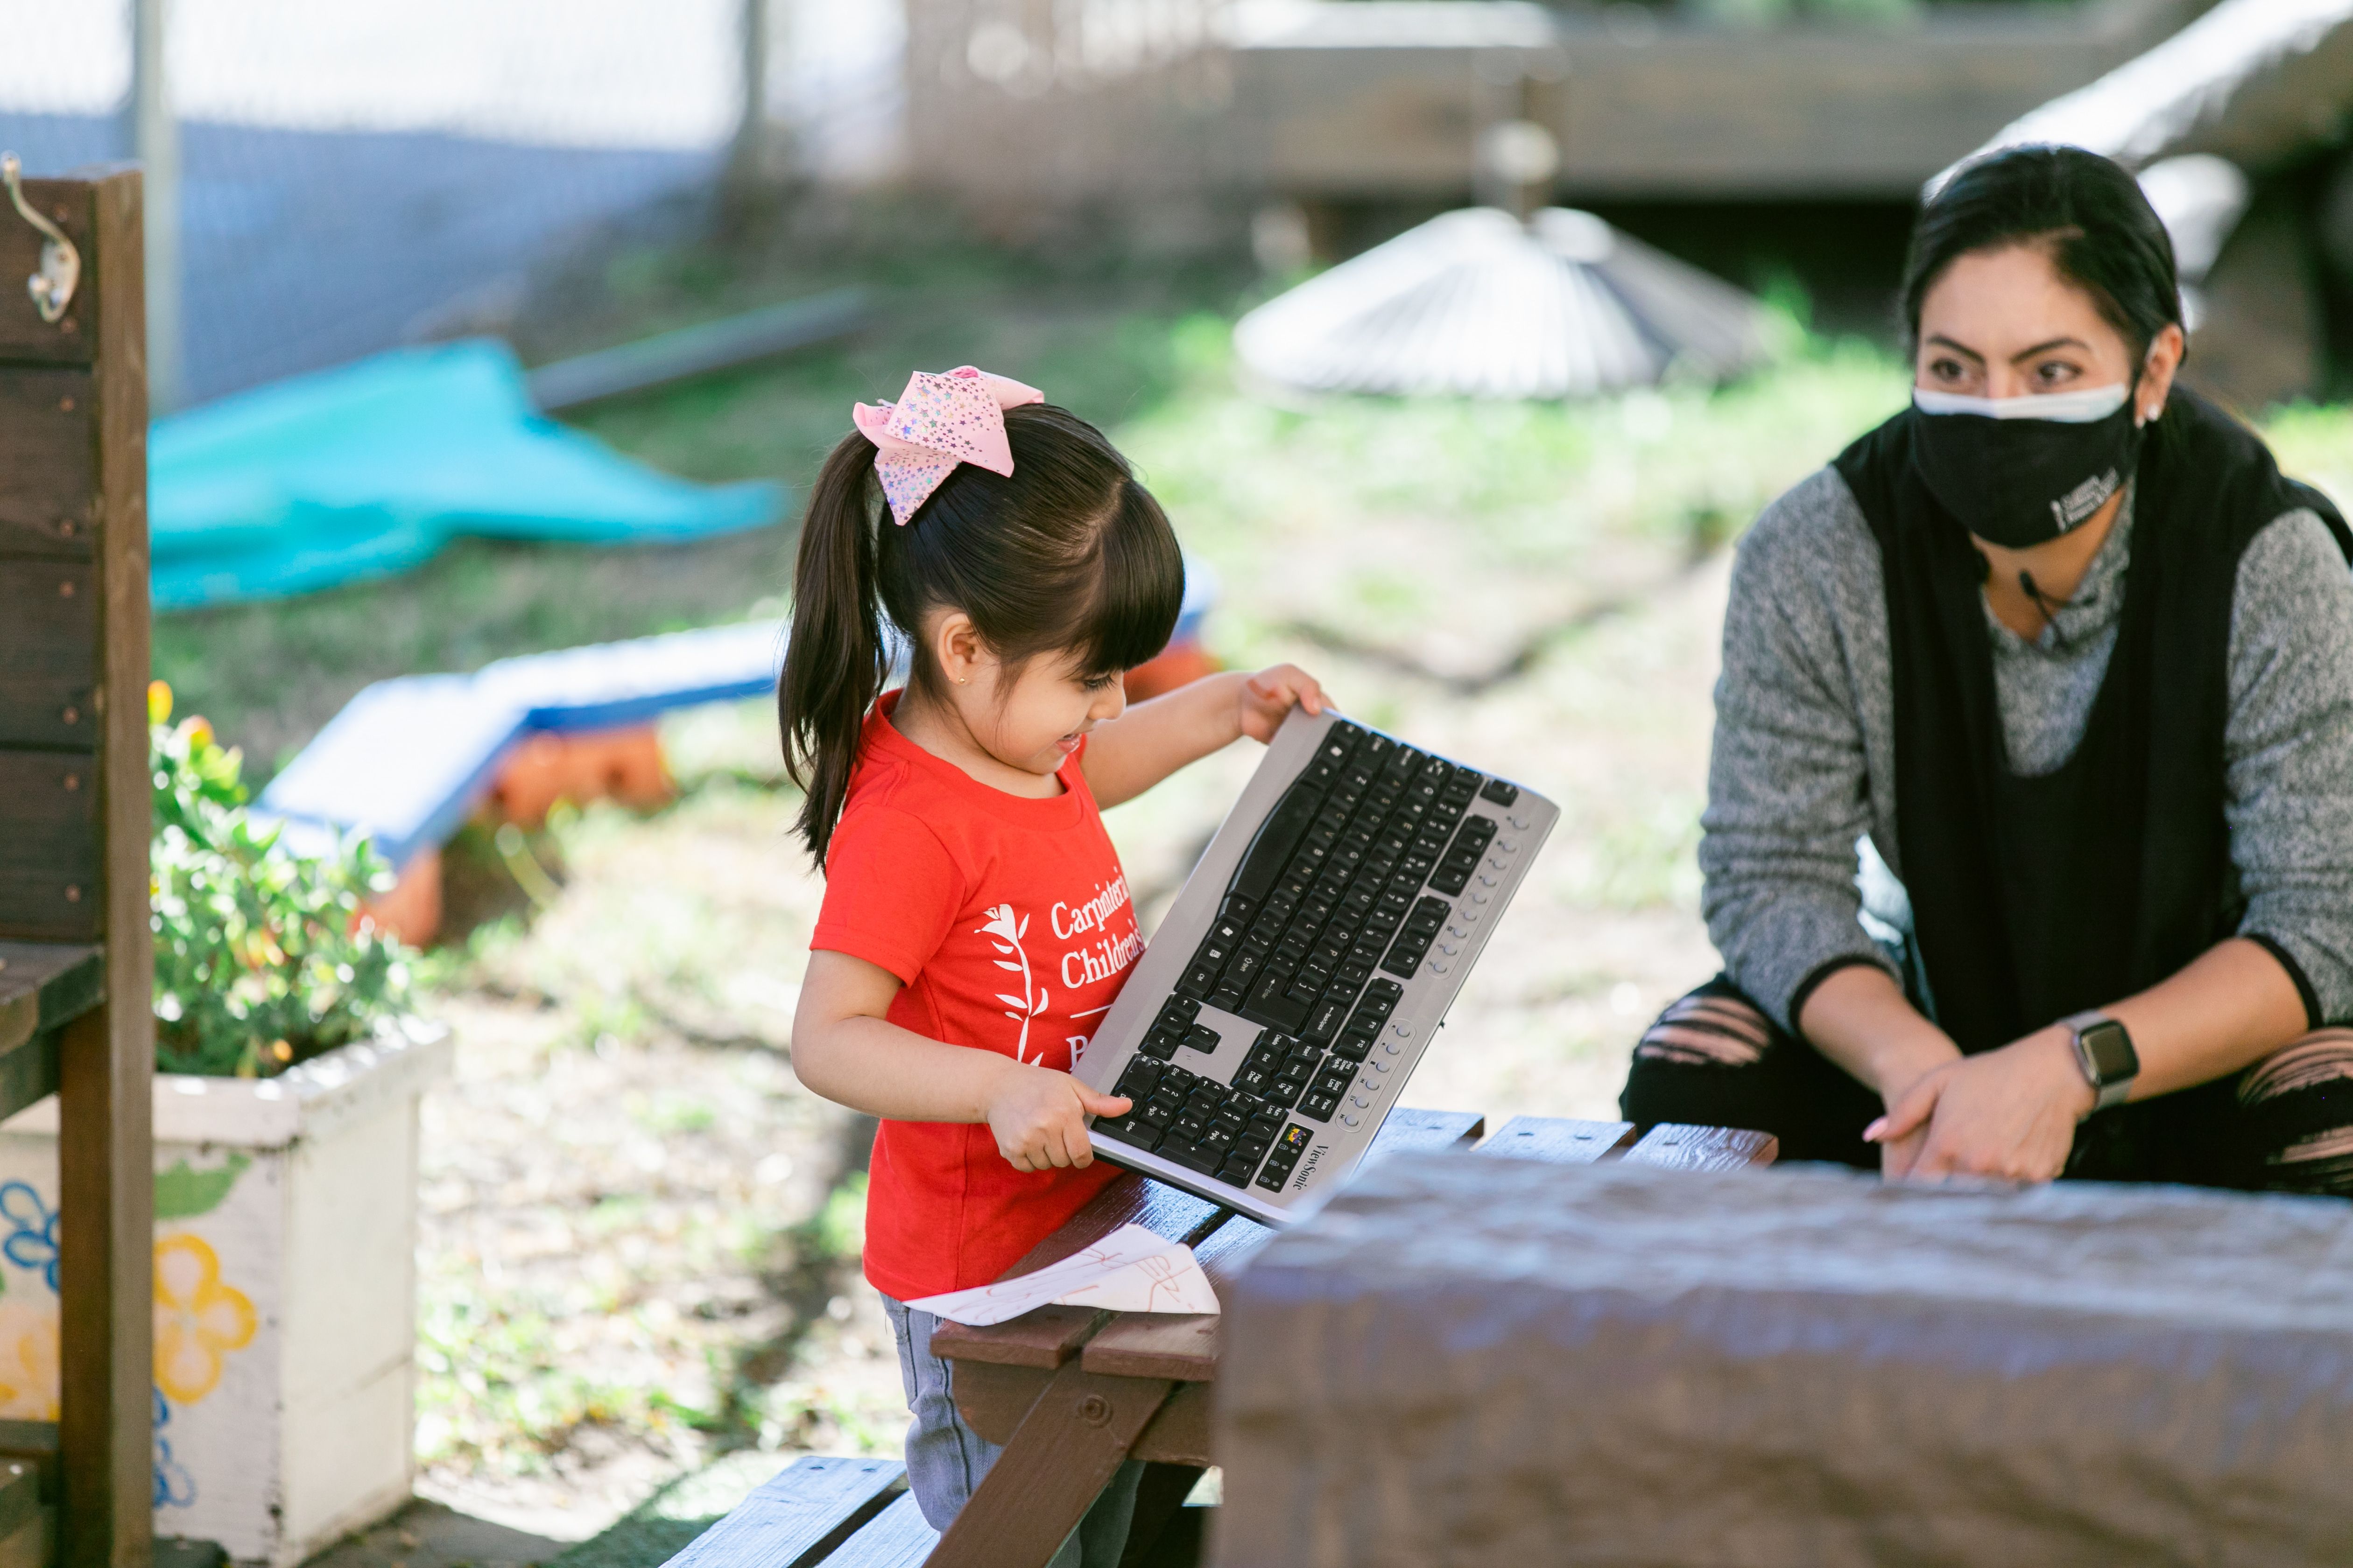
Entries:
{"type": "Polygon", "coordinates": [[[2097,418],[2038,418],[1946,411],[1951,407],[2049,407],[2080,414],[2104,402],[2101,393],[2031,397],[1948,397],[1913,393],[1913,465],[1944,510],[1986,543],[2007,550],[2059,538],[2125,489],[2141,458],[2134,390],[2097,418]],[[1944,404],[1944,407],[1932,407],[1944,404]]]}

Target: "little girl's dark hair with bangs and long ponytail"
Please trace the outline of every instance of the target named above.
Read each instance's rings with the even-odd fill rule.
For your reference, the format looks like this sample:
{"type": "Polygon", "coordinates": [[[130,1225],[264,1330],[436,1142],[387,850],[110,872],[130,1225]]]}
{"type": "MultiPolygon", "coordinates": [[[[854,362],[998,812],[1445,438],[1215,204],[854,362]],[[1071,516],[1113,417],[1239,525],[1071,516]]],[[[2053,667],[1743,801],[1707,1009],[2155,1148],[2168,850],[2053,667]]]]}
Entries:
{"type": "Polygon", "coordinates": [[[1167,515],[1104,433],[1054,404],[1005,409],[1012,475],[974,463],[906,527],[880,505],[875,447],[847,435],[800,524],[793,630],[776,682],[784,766],[807,792],[795,827],[821,867],[849,792],[866,712],[889,677],[882,621],[908,646],[908,684],[944,696],[922,642],[934,609],[972,616],[1009,672],[1040,654],[1096,679],[1167,646],[1184,557],[1167,515]]]}

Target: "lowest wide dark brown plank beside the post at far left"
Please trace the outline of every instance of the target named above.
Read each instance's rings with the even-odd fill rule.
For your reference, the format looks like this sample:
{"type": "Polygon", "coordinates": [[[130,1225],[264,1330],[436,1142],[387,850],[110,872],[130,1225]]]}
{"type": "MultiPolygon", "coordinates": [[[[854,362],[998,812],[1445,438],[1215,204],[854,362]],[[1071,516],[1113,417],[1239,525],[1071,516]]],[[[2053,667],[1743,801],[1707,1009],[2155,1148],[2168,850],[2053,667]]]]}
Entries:
{"type": "Polygon", "coordinates": [[[99,795],[87,752],[0,750],[0,940],[99,940],[99,795]]]}

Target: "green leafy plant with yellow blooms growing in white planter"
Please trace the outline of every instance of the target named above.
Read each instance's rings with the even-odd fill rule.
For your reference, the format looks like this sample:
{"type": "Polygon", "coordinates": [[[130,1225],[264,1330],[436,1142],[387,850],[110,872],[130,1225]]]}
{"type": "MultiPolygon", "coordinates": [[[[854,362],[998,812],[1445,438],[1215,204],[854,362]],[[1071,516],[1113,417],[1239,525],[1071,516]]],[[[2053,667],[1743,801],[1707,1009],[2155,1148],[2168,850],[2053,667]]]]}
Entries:
{"type": "Polygon", "coordinates": [[[252,818],[242,755],[148,693],[155,764],[155,1065],[273,1077],[409,1001],[409,952],[365,914],[391,870],[365,839],[294,853],[252,818]]]}

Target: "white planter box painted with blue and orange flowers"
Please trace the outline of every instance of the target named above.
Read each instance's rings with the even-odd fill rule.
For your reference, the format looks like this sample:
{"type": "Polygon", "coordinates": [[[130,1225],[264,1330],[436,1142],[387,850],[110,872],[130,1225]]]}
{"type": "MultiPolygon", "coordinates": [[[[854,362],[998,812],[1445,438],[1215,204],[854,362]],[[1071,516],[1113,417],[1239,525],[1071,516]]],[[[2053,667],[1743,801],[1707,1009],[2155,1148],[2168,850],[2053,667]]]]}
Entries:
{"type": "MultiPolygon", "coordinates": [[[[409,1495],[416,1103],[449,1034],[155,1079],[155,1533],[289,1568],[409,1495]]],[[[0,1124],[0,1418],[56,1420],[56,1103],[0,1124]]]]}

